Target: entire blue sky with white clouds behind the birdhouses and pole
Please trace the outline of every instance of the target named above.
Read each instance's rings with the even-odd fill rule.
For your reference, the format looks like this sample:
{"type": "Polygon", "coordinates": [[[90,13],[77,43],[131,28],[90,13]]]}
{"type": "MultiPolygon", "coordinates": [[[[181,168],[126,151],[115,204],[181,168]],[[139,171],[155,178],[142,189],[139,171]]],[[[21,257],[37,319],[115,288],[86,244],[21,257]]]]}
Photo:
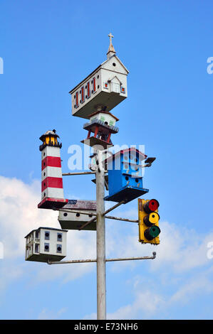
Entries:
{"type": "MultiPolygon", "coordinates": [[[[211,319],[212,1],[9,0],[0,19],[0,318],[96,318],[95,264],[25,262],[24,236],[60,228],[56,212],[37,209],[38,138],[57,130],[68,172],[68,147],[86,135],[68,92],[106,59],[112,32],[130,71],[113,144],[144,144],[156,156],[144,186],[160,202],[162,232],[153,247],[137,242],[137,224],[106,222],[107,257],[157,252],[107,264],[108,318],[211,319]]],[[[64,177],[66,198],[95,199],[90,180],[64,177]]],[[[114,213],[137,219],[137,200],[114,213]]],[[[95,257],[95,232],[68,232],[67,259],[85,257],[95,257]]]]}

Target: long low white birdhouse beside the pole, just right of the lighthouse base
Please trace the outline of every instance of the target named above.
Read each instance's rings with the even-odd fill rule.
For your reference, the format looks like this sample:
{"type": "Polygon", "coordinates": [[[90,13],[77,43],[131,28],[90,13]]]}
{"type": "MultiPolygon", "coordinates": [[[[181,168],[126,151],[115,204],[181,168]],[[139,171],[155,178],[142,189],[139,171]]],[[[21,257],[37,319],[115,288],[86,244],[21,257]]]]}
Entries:
{"type": "MultiPolygon", "coordinates": [[[[86,222],[96,215],[95,200],[68,200],[68,204],[63,207],[64,210],[73,210],[74,212],[59,211],[58,222],[62,229],[79,230],[86,222]],[[79,212],[77,212],[79,211],[79,212]]],[[[96,222],[91,222],[83,230],[96,230],[96,222]]]]}

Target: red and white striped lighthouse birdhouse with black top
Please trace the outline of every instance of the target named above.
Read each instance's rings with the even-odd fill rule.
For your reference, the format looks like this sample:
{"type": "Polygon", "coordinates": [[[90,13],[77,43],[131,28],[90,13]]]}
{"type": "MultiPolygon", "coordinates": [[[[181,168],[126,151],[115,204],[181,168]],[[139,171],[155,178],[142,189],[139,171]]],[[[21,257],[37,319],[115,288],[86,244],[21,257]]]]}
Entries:
{"type": "Polygon", "coordinates": [[[43,142],[39,146],[41,151],[41,202],[38,208],[62,208],[68,203],[63,196],[63,180],[61,172],[60,149],[56,130],[46,131],[39,139],[43,142]]]}

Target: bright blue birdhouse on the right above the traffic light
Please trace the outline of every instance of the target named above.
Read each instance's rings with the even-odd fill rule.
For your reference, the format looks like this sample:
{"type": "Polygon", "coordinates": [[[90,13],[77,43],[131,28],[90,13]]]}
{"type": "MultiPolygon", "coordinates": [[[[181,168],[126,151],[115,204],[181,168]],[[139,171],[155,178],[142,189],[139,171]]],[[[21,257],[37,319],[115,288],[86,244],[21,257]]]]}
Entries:
{"type": "Polygon", "coordinates": [[[105,200],[125,203],[147,193],[142,188],[142,161],[145,154],[137,149],[125,149],[108,158],[108,190],[105,200]]]}

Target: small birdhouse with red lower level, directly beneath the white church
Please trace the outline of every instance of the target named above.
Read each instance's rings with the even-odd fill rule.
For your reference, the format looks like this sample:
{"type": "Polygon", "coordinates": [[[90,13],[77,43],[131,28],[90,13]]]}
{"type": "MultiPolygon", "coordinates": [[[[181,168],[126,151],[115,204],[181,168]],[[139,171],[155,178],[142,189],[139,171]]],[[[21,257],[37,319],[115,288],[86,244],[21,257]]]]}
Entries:
{"type": "Polygon", "coordinates": [[[118,132],[118,127],[115,126],[118,120],[113,114],[103,110],[90,114],[90,122],[83,126],[83,129],[88,130],[88,136],[81,143],[89,146],[98,145],[103,149],[113,146],[110,136],[118,132]]]}

